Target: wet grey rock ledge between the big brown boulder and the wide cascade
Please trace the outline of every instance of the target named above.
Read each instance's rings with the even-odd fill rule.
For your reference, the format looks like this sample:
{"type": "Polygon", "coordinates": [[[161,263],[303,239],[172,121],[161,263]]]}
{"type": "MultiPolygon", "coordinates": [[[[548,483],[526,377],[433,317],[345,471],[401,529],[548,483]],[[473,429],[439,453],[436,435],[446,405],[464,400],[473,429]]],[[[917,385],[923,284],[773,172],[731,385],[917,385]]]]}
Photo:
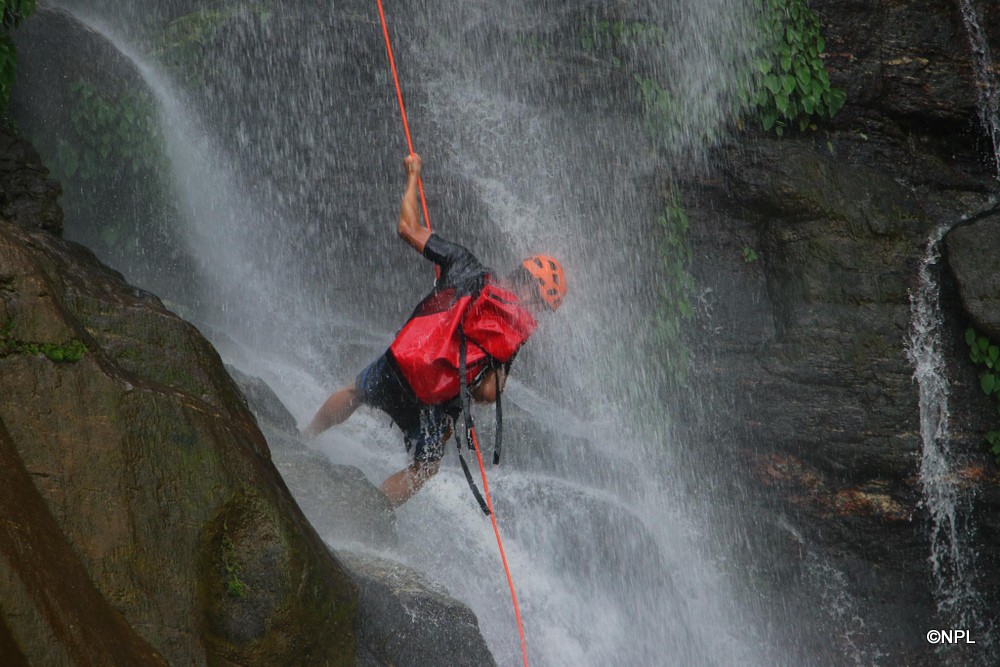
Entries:
{"type": "Polygon", "coordinates": [[[229,368],[267,437],[275,466],[320,535],[336,546],[358,587],[358,664],[495,664],[468,606],[412,568],[374,555],[397,546],[388,498],[357,468],[334,464],[306,446],[294,417],[266,382],[229,368]]]}

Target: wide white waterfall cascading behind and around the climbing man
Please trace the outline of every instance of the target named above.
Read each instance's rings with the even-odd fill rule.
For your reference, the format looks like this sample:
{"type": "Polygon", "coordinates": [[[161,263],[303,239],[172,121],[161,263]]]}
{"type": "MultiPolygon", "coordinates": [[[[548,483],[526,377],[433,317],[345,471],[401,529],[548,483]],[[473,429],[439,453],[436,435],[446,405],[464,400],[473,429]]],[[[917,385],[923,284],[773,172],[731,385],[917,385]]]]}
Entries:
{"type": "MultiPolygon", "coordinates": [[[[741,75],[733,63],[746,54],[734,49],[752,41],[751,4],[691,0],[671,3],[666,16],[658,3],[636,3],[645,20],[677,28],[646,63],[678,82],[672,93],[681,117],[665,146],[634,113],[587,108],[587,91],[569,95],[561,89],[568,80],[541,67],[537,51],[513,48],[549,34],[560,12],[575,16],[575,3],[422,3],[426,14],[390,17],[427,32],[404,42],[401,64],[411,99],[421,100],[411,121],[434,138],[418,139],[432,203],[444,197],[435,188],[460,192],[447,195],[454,206],[437,228],[488,263],[534,249],[558,254],[573,281],[570,301],[518,360],[508,391],[513,442],[490,482],[534,664],[795,662],[788,656],[796,647],[771,644],[773,634],[734,592],[730,552],[718,549],[732,540],[732,527],[709,521],[688,494],[684,459],[657,398],[664,378],[636,335],[656,308],[649,287],[656,271],[647,262],[658,257],[648,232],[657,209],[642,184],[662,168],[659,151],[704,166],[706,137],[723,131],[735,104],[741,75]],[[490,41],[497,35],[507,41],[490,41]],[[470,201],[481,222],[467,219],[470,201]]],[[[189,248],[204,272],[202,312],[243,346],[246,370],[305,420],[388,343],[392,325],[374,311],[403,313],[427,287],[413,279],[426,267],[393,238],[400,130],[378,126],[371,111],[392,109],[384,62],[357,71],[359,86],[381,78],[386,94],[352,101],[350,91],[331,88],[323,25],[294,43],[273,35],[235,40],[225,64],[258,78],[230,82],[228,92],[243,96],[206,100],[142,64],[143,48],[122,23],[132,11],[105,14],[111,27],[101,29],[141,64],[160,101],[189,248]],[[243,51],[254,48],[268,59],[243,51]],[[295,48],[297,68],[276,69],[277,51],[295,48]],[[199,121],[206,114],[216,123],[199,121]],[[228,141],[216,136],[223,130],[228,141]],[[391,164],[381,163],[385,155],[391,164]]],[[[377,34],[370,19],[347,21],[358,34],[377,34]]],[[[358,53],[378,55],[347,58],[358,53]]],[[[359,413],[319,446],[377,482],[405,464],[398,440],[384,419],[359,413]]],[[[391,555],[476,612],[499,664],[518,662],[493,535],[454,460],[446,458],[397,519],[401,547],[391,555]]],[[[941,525],[943,535],[954,530],[946,519],[941,525]]]]}

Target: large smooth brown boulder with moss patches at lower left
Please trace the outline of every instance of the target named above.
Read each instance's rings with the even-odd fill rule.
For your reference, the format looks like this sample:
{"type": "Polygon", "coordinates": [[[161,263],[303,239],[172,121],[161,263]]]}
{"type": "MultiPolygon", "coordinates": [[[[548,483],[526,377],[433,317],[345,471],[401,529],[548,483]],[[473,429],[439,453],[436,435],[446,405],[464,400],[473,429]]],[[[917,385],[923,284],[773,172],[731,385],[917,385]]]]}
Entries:
{"type": "Polygon", "coordinates": [[[215,351],[2,220],[0,455],[0,635],[29,664],[353,662],[355,588],[215,351]]]}

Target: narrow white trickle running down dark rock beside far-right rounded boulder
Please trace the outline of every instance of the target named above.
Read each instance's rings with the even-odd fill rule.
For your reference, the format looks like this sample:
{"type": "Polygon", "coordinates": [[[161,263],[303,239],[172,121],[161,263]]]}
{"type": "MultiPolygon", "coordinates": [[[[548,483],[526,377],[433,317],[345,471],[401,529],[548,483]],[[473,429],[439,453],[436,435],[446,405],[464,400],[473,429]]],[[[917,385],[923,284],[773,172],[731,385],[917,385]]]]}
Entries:
{"type": "Polygon", "coordinates": [[[966,517],[967,501],[954,474],[950,442],[948,376],[941,340],[941,294],[937,277],[940,244],[950,226],[938,228],[927,242],[919,285],[910,295],[912,329],[907,348],[920,394],[920,483],[930,516],[929,564],[942,621],[954,627],[981,629],[981,600],[975,589],[975,553],[966,517]]]}

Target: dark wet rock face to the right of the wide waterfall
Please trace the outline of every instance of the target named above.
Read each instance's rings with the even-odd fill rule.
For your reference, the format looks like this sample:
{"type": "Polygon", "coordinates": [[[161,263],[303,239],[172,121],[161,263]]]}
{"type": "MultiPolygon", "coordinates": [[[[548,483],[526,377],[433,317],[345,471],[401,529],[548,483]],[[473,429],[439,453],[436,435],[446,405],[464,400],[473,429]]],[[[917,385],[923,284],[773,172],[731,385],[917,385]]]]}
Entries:
{"type": "MultiPolygon", "coordinates": [[[[1000,581],[996,466],[982,439],[995,408],[976,396],[962,341],[970,321],[1000,336],[991,259],[1000,235],[996,215],[981,215],[1000,187],[957,5],[810,3],[847,106],[817,133],[748,133],[720,150],[716,179],[685,194],[704,297],[693,379],[724,409],[682,409],[693,441],[718,443],[717,468],[742,478],[734,497],[761,499],[745,518],[757,539],[788,547],[787,562],[751,571],[791,599],[793,579],[823,596],[834,578],[811,575],[807,556],[821,554],[851,581],[866,624],[858,636],[889,628],[865,641],[909,664],[933,664],[923,631],[950,620],[928,561],[911,295],[928,239],[970,217],[932,272],[958,511],[969,521],[962,539],[979,554],[983,608],[998,603],[1000,581]]],[[[995,4],[979,9],[1000,43],[995,4]]]]}

